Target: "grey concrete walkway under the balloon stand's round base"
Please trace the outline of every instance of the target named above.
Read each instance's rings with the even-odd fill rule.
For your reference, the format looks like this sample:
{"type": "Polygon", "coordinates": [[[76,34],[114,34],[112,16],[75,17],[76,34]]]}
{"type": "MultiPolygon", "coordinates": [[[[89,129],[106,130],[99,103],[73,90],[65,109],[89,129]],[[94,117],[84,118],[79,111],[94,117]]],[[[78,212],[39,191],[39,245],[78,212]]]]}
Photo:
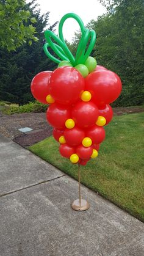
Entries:
{"type": "Polygon", "coordinates": [[[143,256],[144,224],[82,186],[90,209],[77,212],[77,181],[0,136],[1,256],[143,256]]]}

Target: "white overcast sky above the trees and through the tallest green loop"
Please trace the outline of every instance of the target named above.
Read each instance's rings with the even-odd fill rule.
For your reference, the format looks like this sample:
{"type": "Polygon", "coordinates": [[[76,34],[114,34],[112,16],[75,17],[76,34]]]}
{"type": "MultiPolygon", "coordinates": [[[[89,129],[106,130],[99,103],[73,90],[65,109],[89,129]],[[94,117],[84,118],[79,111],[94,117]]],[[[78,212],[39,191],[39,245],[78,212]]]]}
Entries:
{"type": "MultiPolygon", "coordinates": [[[[26,2],[29,2],[27,0],[26,2]]],[[[49,11],[49,23],[53,24],[60,21],[63,15],[69,12],[74,12],[80,16],[86,25],[90,20],[102,15],[106,9],[99,3],[98,0],[37,0],[40,4],[41,13],[49,11]]],[[[57,25],[57,29],[58,29],[57,25]]],[[[74,31],[79,30],[77,22],[68,18],[63,24],[63,35],[68,41],[71,41],[74,36],[74,31]]],[[[57,30],[56,30],[57,33],[57,30]]]]}

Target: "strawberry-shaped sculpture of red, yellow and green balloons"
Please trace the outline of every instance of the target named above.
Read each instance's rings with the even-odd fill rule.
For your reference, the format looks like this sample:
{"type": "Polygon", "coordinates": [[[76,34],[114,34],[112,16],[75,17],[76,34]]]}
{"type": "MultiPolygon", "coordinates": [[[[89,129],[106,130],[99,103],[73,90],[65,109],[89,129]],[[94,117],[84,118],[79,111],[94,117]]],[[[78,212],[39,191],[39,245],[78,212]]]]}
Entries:
{"type": "Polygon", "coordinates": [[[31,92],[38,101],[49,104],[46,118],[54,128],[54,139],[60,143],[60,154],[71,163],[84,166],[98,156],[105,138],[103,126],[113,117],[109,104],[120,95],[121,80],[117,74],[96,65],[90,56],[96,42],[95,31],[86,29],[76,14],[68,13],[60,20],[59,37],[48,30],[45,38],[46,56],[59,65],[54,71],[38,73],[32,79],[31,92]],[[67,18],[74,18],[81,27],[75,58],[62,33],[67,18]]]}

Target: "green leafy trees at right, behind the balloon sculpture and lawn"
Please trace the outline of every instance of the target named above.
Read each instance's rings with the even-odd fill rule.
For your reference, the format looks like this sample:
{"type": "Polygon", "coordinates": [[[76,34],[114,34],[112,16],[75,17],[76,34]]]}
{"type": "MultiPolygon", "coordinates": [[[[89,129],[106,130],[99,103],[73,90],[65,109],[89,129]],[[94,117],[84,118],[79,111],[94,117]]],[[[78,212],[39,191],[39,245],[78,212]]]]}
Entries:
{"type": "Polygon", "coordinates": [[[101,2],[107,5],[108,12],[88,24],[97,35],[92,56],[99,65],[117,73],[123,82],[123,91],[114,106],[143,104],[143,0],[101,2]]]}

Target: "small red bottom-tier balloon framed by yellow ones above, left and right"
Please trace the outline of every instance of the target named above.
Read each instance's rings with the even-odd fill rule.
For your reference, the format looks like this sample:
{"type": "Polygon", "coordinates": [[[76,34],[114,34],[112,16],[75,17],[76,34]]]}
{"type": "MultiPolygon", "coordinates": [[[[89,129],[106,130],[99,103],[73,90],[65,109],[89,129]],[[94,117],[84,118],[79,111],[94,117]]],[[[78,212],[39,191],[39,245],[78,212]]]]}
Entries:
{"type": "Polygon", "coordinates": [[[76,148],[76,153],[79,158],[88,159],[92,156],[93,147],[83,147],[82,145],[79,145],[79,147],[76,148]]]}

